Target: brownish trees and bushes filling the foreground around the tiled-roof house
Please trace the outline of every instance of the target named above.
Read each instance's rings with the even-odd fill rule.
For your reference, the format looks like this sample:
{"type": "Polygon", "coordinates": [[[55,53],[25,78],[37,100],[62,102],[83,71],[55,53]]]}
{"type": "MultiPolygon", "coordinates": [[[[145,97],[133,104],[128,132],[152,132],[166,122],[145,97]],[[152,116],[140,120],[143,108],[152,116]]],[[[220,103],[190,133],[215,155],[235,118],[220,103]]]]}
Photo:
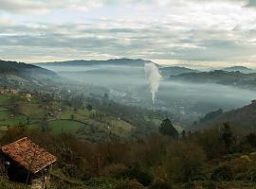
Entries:
{"type": "MultiPolygon", "coordinates": [[[[0,143],[28,136],[56,155],[52,188],[255,188],[255,133],[237,134],[229,123],[221,129],[184,131],[180,138],[161,133],[92,143],[66,133],[11,127],[0,143]]],[[[4,167],[1,178],[6,188],[16,187],[4,167]]]]}

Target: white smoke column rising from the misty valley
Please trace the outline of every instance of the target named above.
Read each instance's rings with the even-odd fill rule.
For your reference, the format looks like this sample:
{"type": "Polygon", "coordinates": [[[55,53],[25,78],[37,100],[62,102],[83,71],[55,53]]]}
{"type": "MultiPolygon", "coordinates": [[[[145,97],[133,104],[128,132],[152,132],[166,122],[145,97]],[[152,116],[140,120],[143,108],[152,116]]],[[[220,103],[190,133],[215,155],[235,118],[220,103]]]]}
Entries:
{"type": "Polygon", "coordinates": [[[155,93],[158,91],[162,76],[159,74],[158,68],[154,63],[145,63],[144,70],[150,82],[152,102],[155,104],[155,93]]]}

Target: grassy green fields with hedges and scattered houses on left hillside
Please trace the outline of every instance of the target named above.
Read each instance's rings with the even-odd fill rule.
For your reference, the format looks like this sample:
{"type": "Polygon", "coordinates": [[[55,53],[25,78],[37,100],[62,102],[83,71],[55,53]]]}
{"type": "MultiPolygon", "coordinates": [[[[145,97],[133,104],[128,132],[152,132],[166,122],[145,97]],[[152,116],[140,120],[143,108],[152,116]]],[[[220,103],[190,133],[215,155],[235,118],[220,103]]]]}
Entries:
{"type": "Polygon", "coordinates": [[[97,110],[88,111],[82,108],[75,111],[73,107],[64,106],[57,101],[46,103],[37,96],[32,96],[28,101],[19,94],[0,95],[0,131],[12,126],[43,129],[44,119],[47,122],[46,128],[53,134],[65,132],[79,138],[94,140],[110,135],[128,137],[135,129],[127,122],[97,110]],[[11,113],[10,109],[17,105],[19,113],[11,113]]]}

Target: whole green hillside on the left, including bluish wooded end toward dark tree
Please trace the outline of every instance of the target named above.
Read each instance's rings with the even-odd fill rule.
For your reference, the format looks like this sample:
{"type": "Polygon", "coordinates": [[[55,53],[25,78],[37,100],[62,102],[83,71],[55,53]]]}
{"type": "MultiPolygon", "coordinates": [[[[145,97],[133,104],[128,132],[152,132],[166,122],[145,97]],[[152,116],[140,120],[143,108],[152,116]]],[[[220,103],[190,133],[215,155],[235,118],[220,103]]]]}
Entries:
{"type": "MultiPolygon", "coordinates": [[[[91,141],[128,138],[158,130],[159,112],[126,107],[111,101],[77,98],[56,99],[49,94],[30,94],[0,88],[0,133],[9,127],[68,133],[91,141]],[[79,104],[79,105],[78,105],[79,104]],[[93,105],[90,109],[87,105],[93,105]],[[156,114],[156,115],[155,115],[156,114]]],[[[164,116],[162,116],[164,117],[164,116]]]]}

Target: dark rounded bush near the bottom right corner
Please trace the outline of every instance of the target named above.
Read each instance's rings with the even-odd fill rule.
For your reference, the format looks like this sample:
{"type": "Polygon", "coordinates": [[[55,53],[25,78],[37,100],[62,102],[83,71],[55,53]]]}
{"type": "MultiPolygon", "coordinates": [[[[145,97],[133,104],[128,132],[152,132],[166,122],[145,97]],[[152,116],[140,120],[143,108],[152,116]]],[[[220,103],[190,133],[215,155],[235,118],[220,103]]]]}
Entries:
{"type": "Polygon", "coordinates": [[[224,164],[217,167],[211,175],[211,180],[215,180],[215,181],[233,180],[233,172],[229,167],[229,165],[224,164]]]}

